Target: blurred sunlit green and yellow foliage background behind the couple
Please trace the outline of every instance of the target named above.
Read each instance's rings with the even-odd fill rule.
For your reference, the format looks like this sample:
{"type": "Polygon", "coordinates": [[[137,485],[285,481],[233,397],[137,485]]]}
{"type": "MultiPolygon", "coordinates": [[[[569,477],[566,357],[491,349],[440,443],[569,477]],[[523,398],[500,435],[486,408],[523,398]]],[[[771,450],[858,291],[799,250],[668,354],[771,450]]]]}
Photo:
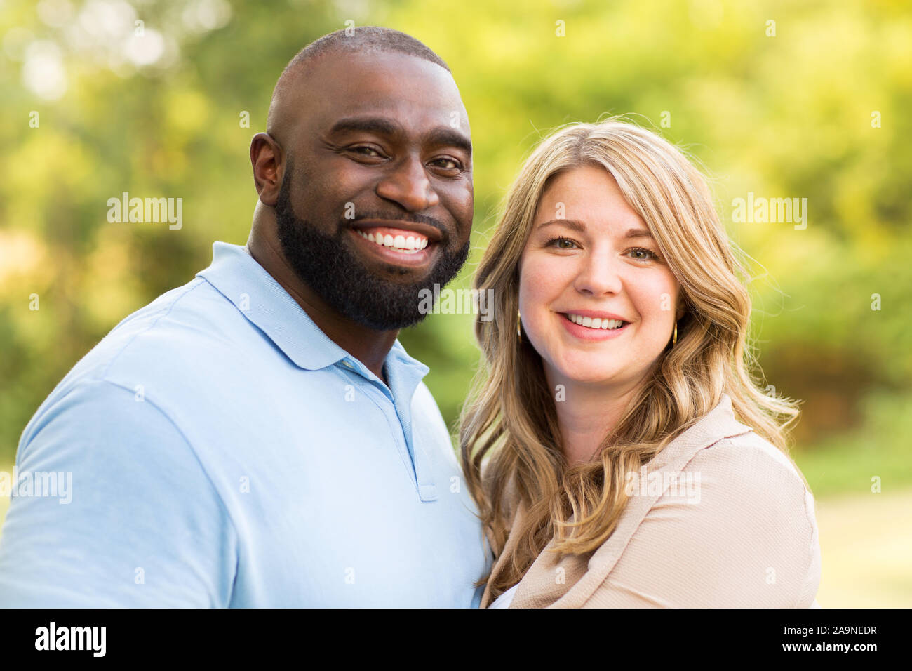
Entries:
{"type": "MultiPolygon", "coordinates": [[[[753,259],[766,382],[804,402],[793,456],[817,498],[817,600],[912,606],[905,0],[0,0],[0,470],[119,320],[208,266],[214,240],[244,244],[275,79],[346,25],[418,37],[460,86],[476,211],[455,286],[554,126],[624,113],[700,160],[753,259]],[[182,198],[180,230],[109,223],[123,192],[182,198]],[[736,221],[748,194],[806,198],[806,226],[736,221]]],[[[400,336],[451,427],[478,364],[471,326],[431,315],[400,336]]]]}

